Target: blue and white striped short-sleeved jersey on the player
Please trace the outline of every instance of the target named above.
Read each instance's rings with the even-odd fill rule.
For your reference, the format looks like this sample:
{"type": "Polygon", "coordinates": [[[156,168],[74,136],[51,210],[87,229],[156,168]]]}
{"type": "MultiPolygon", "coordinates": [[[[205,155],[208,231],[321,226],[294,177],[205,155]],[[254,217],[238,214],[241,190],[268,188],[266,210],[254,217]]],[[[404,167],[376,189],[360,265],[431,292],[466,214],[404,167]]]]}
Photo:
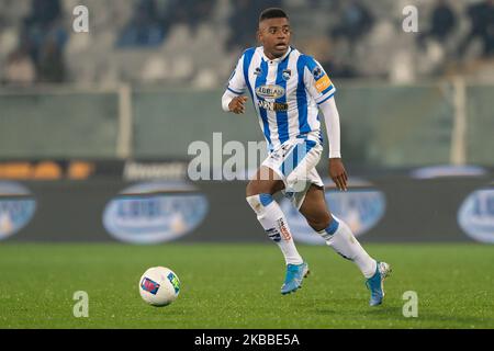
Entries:
{"type": "Polygon", "coordinates": [[[236,95],[248,90],[270,151],[293,138],[322,143],[317,105],[336,91],[323,67],[293,47],[272,60],[262,47],[245,50],[227,89],[236,95]]]}

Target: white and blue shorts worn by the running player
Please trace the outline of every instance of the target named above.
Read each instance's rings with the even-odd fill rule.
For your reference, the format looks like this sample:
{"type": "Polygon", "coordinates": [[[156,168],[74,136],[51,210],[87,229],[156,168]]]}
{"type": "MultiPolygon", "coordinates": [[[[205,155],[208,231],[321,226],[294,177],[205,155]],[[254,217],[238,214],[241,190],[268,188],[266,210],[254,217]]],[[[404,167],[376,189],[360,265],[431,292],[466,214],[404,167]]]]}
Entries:
{"type": "Polygon", "coordinates": [[[291,139],[269,154],[261,166],[272,169],[283,181],[284,196],[300,208],[312,184],[324,186],[316,166],[323,146],[314,140],[291,139]]]}

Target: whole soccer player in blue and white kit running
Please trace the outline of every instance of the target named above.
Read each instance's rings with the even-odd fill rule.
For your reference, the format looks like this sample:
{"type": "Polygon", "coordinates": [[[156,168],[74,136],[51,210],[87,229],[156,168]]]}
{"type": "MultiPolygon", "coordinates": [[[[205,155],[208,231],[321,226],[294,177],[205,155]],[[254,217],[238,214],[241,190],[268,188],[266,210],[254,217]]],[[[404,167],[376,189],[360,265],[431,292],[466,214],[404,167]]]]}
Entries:
{"type": "Polygon", "coordinates": [[[308,265],[297,252],[287,218],[273,199],[279,191],[328,246],[357,264],[371,292],[370,305],[380,305],[390,265],[371,258],[348,225],[332,215],[315,168],[323,150],[321,110],[329,143],[329,176],[340,191],[347,190],[335,87],[314,58],[290,46],[290,22],[282,9],[262,11],[257,36],[261,46],[242,55],[222,106],[226,112],[243,114],[247,101],[244,92],[248,91],[269,146],[268,158],[247,185],[247,202],[284,256],[287,274],[281,293],[295,292],[308,274],[308,265]]]}

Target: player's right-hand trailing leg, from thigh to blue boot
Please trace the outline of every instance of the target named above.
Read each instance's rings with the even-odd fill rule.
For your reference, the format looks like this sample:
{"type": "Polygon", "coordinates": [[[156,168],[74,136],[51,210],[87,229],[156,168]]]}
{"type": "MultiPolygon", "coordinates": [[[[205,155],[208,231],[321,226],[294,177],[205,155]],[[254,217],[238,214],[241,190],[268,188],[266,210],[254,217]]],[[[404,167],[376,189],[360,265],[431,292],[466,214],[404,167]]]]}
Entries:
{"type": "Polygon", "coordinates": [[[326,205],[324,189],[311,185],[300,212],[328,246],[357,264],[366,276],[366,284],[371,291],[370,305],[380,305],[384,297],[382,283],[391,269],[388,263],[372,259],[355,238],[348,225],[332,215],[326,205]]]}

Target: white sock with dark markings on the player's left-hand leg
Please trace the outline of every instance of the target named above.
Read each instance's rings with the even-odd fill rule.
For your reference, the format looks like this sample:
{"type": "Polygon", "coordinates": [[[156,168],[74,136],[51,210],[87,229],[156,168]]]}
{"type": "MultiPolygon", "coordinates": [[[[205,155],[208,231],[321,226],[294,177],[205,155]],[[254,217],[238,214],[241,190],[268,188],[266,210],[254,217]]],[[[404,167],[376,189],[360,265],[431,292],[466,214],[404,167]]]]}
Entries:
{"type": "Polygon", "coordinates": [[[247,197],[247,202],[257,214],[257,219],[269,238],[278,244],[287,264],[302,264],[304,261],[296,251],[287,218],[270,194],[247,197]]]}

